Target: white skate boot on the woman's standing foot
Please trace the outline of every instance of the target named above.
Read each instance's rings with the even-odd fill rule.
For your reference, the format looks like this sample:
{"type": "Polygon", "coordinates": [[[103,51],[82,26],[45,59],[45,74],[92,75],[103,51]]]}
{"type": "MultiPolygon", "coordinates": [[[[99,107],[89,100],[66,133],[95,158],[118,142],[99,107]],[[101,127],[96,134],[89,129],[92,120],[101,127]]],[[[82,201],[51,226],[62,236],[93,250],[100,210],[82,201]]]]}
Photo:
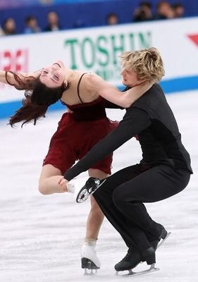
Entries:
{"type": "Polygon", "coordinates": [[[85,275],[92,275],[96,273],[97,269],[99,269],[101,266],[101,262],[97,257],[97,252],[95,248],[96,248],[95,242],[89,242],[89,243],[85,242],[82,245],[81,267],[82,269],[85,269],[85,275]],[[89,269],[90,272],[87,272],[87,269],[89,269]]]}

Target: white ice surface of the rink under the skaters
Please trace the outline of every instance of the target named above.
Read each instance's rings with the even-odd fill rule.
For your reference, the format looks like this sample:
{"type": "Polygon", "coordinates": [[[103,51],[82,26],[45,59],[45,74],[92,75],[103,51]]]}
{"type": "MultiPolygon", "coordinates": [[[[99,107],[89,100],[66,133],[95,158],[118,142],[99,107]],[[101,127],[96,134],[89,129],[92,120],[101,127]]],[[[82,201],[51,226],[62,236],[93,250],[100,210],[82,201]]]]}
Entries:
{"type": "MultiPolygon", "coordinates": [[[[0,121],[1,282],[198,281],[198,91],[171,94],[167,99],[177,118],[182,142],[190,152],[194,174],[180,194],[147,204],[153,219],[172,233],[156,252],[160,271],[146,276],[115,276],[113,266],[127,249],[105,220],[97,243],[101,269],[96,276],[83,276],[80,248],[89,200],[77,204],[68,193],[44,196],[37,190],[42,159],[62,114],[54,112],[37,126],[29,124],[23,130],[0,121]]],[[[120,110],[109,111],[114,120],[123,114],[120,110]]],[[[140,157],[137,141],[130,140],[114,153],[113,171],[134,164],[140,157]]],[[[80,185],[84,184],[87,173],[78,179],[80,185]]],[[[141,269],[145,267],[141,265],[141,269]]]]}

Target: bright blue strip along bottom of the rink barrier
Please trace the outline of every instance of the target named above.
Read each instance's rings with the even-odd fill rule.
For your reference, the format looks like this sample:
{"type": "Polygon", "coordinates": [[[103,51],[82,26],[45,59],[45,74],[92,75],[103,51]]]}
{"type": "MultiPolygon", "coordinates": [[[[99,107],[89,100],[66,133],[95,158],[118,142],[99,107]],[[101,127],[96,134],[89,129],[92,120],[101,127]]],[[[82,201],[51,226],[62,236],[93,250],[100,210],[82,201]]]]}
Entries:
{"type": "MultiPolygon", "coordinates": [[[[174,78],[171,80],[163,80],[160,82],[161,87],[165,94],[174,94],[175,92],[185,92],[190,90],[198,90],[198,76],[190,76],[187,78],[174,78]]],[[[123,86],[118,85],[120,90],[123,90],[123,86]]],[[[14,112],[22,106],[21,100],[4,102],[0,104],[0,118],[8,118],[13,115],[14,112]]],[[[60,102],[49,106],[48,111],[63,110],[66,106],[63,106],[60,102]]]]}

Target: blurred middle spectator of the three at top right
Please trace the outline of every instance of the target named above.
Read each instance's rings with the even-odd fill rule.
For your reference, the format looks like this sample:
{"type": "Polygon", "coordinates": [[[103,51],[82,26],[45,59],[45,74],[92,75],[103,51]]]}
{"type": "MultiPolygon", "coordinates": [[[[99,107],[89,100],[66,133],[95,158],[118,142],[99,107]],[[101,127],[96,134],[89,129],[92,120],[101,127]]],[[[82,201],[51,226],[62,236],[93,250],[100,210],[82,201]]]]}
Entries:
{"type": "Polygon", "coordinates": [[[171,4],[168,1],[160,1],[157,6],[156,20],[166,20],[168,18],[174,18],[174,11],[171,4]]]}

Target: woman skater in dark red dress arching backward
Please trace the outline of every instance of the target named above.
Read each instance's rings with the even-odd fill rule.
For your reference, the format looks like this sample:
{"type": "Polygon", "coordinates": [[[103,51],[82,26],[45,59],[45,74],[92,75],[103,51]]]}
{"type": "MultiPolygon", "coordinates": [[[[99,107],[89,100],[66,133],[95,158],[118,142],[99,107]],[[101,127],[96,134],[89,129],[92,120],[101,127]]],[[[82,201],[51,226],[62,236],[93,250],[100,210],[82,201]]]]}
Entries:
{"type": "MultiPolygon", "coordinates": [[[[11,116],[9,123],[28,123],[43,117],[48,106],[60,100],[68,111],[58,123],[51,138],[49,152],[44,159],[39,177],[39,192],[49,195],[66,192],[58,185],[63,173],[105,137],[118,123],[106,117],[106,99],[125,108],[151,87],[141,82],[128,92],[119,92],[116,87],[94,73],[83,73],[67,68],[56,61],[35,73],[0,71],[0,82],[25,90],[23,106],[11,116]]],[[[22,124],[22,126],[23,126],[22,124]]],[[[112,154],[89,168],[89,176],[106,178],[111,174],[112,154]]],[[[99,229],[104,219],[97,202],[91,197],[91,209],[87,219],[85,243],[82,246],[82,267],[98,269],[100,262],[95,251],[99,229]]]]}

